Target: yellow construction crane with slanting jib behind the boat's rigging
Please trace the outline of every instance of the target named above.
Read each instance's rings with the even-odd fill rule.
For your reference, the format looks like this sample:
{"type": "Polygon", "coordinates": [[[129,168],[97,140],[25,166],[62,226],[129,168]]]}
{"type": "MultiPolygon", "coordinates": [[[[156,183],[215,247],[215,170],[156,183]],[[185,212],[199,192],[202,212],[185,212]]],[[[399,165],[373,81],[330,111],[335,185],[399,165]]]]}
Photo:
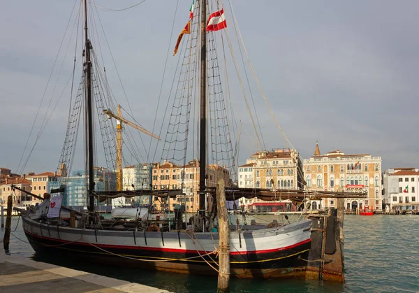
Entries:
{"type": "Polygon", "coordinates": [[[115,115],[111,110],[103,110],[103,113],[108,115],[108,118],[114,118],[117,120],[117,190],[122,190],[122,123],[125,123],[139,131],[152,136],[160,141],[159,136],[152,134],[150,131],[147,131],[144,127],[140,127],[137,124],[134,124],[131,121],[126,120],[122,117],[121,105],[118,105],[118,113],[115,115]]]}

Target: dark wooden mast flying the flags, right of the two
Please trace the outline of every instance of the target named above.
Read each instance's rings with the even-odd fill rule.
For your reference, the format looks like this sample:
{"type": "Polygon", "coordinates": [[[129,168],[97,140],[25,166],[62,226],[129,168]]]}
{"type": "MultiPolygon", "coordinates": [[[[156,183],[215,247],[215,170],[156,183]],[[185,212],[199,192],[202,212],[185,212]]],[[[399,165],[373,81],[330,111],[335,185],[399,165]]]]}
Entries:
{"type": "Polygon", "coordinates": [[[199,210],[205,215],[207,160],[207,0],[201,0],[199,210]]]}

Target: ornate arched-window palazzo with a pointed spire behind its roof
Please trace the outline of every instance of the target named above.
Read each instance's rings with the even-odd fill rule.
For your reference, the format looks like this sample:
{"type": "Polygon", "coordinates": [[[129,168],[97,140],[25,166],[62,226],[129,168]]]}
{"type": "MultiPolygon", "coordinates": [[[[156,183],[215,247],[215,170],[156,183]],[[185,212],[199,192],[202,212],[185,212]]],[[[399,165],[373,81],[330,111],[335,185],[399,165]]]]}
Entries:
{"type": "MultiPolygon", "coordinates": [[[[318,143],[314,156],[304,159],[304,180],[310,191],[367,192],[366,199],[345,199],[345,208],[382,210],[381,157],[346,155],[340,150],[321,155],[318,143]]],[[[312,201],[311,209],[337,208],[335,199],[312,201]]]]}

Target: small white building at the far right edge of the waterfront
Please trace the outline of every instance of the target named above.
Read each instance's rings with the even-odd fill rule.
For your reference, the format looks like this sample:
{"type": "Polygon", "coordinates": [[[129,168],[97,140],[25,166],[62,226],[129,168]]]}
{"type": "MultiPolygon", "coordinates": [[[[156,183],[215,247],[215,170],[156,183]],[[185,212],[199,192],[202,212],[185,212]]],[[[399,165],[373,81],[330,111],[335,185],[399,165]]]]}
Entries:
{"type": "Polygon", "coordinates": [[[389,210],[419,210],[419,170],[391,168],[383,174],[384,200],[389,210]]]}

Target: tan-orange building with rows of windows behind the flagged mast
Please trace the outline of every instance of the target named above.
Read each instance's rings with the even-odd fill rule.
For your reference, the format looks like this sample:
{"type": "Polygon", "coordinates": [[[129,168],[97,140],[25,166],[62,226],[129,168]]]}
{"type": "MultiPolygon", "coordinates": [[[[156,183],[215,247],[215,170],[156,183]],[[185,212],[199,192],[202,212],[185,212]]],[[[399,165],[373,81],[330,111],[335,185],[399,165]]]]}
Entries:
{"type": "MultiPolygon", "coordinates": [[[[195,159],[185,166],[178,166],[172,162],[154,163],[152,170],[153,190],[182,189],[175,199],[153,199],[152,205],[156,210],[173,208],[176,204],[184,206],[187,212],[194,212],[199,208],[199,160],[195,159]]],[[[223,178],[226,187],[230,186],[230,172],[226,166],[218,164],[207,165],[207,187],[215,187],[219,179],[223,178]]],[[[212,196],[207,196],[207,208],[212,206],[212,196]]]]}

